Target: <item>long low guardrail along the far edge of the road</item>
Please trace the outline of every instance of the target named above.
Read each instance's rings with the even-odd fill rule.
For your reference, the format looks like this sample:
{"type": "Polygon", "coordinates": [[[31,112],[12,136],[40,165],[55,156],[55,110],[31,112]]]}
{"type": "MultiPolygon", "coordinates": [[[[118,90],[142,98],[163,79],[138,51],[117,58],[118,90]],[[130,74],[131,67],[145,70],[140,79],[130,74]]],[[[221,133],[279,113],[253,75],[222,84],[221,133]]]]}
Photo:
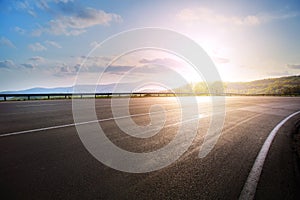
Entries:
{"type": "Polygon", "coordinates": [[[111,98],[111,97],[174,97],[174,96],[299,96],[299,94],[239,94],[239,93],[172,93],[172,92],[133,92],[133,93],[43,93],[43,94],[0,94],[0,101],[35,99],[72,98],[111,98]]]}

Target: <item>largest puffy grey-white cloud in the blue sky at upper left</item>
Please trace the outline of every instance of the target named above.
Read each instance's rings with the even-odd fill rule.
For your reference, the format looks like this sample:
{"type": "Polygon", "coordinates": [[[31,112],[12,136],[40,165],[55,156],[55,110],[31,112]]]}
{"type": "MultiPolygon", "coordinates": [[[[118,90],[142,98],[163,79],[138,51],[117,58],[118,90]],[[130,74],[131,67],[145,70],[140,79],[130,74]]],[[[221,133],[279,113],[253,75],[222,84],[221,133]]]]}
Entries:
{"type": "MultiPolygon", "coordinates": [[[[96,25],[109,25],[111,22],[121,22],[122,17],[115,13],[106,13],[94,8],[81,8],[71,15],[59,15],[48,22],[45,28],[34,30],[35,33],[50,33],[53,35],[80,35],[87,28],[96,25]]],[[[39,35],[36,34],[36,35],[39,35]]]]}

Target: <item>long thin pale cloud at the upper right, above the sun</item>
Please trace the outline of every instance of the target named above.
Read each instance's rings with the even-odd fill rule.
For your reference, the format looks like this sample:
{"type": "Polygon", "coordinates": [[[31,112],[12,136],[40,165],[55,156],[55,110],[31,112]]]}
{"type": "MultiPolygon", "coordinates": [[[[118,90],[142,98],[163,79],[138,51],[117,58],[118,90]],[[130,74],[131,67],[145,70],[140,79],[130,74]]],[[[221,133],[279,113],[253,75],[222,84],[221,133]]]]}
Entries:
{"type": "Polygon", "coordinates": [[[288,19],[299,16],[300,13],[262,13],[246,16],[226,16],[205,7],[186,8],[177,14],[177,18],[189,22],[222,23],[234,25],[260,25],[276,19],[288,19]]]}

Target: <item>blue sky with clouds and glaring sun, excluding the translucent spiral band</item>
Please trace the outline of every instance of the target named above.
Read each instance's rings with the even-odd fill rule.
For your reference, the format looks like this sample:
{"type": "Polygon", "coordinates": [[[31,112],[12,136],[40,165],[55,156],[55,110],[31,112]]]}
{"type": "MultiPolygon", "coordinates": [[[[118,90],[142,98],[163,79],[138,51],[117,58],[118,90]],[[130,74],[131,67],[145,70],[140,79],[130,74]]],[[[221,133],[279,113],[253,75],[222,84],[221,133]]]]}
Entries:
{"type": "Polygon", "coordinates": [[[82,67],[88,82],[111,60],[100,84],[165,78],[170,70],[187,82],[201,81],[170,52],[88,57],[105,39],[144,27],[195,41],[223,81],[300,74],[299,0],[0,0],[0,27],[0,91],[72,86],[82,67]]]}

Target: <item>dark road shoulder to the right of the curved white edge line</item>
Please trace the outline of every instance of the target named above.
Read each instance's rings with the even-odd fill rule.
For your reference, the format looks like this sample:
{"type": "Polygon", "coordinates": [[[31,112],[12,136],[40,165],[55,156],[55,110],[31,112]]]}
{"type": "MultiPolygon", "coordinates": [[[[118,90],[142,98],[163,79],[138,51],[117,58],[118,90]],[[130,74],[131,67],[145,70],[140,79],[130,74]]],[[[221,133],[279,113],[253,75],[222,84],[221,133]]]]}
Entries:
{"type": "Polygon", "coordinates": [[[255,199],[300,199],[299,115],[283,125],[270,147],[255,199]]]}

